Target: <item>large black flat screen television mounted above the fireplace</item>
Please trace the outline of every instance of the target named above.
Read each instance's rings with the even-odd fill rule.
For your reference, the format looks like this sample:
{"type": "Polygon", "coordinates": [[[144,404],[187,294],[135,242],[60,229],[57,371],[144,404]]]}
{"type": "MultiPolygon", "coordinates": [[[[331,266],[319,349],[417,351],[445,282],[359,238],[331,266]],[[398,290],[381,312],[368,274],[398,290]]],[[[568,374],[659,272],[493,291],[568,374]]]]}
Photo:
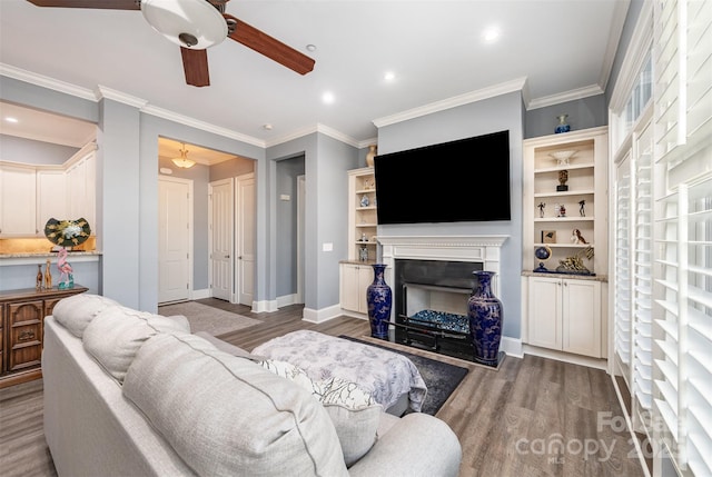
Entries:
{"type": "Polygon", "coordinates": [[[378,223],[511,220],[510,131],[376,156],[378,223]]]}

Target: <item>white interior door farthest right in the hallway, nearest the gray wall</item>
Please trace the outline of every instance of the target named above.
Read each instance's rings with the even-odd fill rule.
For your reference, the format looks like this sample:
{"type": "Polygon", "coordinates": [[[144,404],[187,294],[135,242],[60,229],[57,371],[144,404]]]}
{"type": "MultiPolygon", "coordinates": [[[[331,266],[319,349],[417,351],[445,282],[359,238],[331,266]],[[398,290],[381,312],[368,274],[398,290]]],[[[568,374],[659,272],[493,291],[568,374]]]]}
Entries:
{"type": "Polygon", "coordinates": [[[255,290],[255,175],[236,178],[237,301],[253,306],[255,290]]]}

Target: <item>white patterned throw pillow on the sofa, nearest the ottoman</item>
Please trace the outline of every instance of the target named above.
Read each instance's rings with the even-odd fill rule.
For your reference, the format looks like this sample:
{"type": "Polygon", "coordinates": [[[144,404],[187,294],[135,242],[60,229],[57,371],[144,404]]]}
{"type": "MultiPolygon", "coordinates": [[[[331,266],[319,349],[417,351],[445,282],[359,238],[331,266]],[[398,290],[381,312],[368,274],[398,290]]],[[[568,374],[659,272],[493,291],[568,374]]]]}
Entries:
{"type": "Polygon", "coordinates": [[[370,392],[338,378],[313,380],[290,362],[265,359],[259,364],[271,372],[307,389],[324,406],[338,436],[347,467],[358,461],[376,443],[383,407],[370,392]]]}

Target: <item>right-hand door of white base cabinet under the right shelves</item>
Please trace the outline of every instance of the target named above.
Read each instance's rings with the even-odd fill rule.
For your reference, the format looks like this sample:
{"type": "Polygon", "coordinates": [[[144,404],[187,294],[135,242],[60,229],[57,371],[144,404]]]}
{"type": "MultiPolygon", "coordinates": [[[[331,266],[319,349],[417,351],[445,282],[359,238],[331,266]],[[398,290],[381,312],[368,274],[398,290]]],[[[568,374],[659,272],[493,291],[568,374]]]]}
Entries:
{"type": "Polygon", "coordinates": [[[601,358],[601,284],[563,279],[563,350],[601,358]]]}

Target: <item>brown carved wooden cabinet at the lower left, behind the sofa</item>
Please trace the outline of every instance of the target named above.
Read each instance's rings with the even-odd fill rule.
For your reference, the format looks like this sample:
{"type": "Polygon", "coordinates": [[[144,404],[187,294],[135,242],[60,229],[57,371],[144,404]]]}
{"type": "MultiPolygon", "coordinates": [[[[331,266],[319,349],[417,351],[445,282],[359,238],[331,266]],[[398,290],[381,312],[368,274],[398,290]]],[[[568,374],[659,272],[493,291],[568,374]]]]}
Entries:
{"type": "Polygon", "coordinates": [[[0,388],[42,376],[44,317],[62,298],[85,291],[85,287],[0,291],[0,388]]]}

